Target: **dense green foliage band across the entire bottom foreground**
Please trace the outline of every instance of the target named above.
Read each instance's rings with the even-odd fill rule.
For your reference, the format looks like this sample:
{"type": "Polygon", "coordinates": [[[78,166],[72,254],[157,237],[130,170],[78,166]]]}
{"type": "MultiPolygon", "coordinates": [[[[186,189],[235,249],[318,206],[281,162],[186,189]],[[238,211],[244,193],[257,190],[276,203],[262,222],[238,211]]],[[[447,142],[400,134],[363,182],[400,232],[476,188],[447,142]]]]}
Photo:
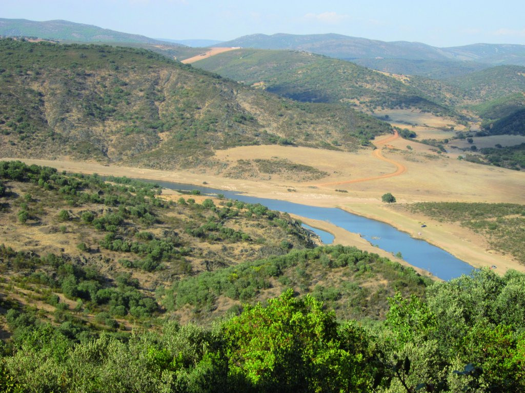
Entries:
{"type": "MultiPolygon", "coordinates": [[[[525,276],[480,270],[435,283],[427,300],[390,298],[383,324],[339,323],[288,290],[211,329],[71,341],[9,314],[4,391],[507,392],[525,389],[525,276]],[[508,307],[512,304],[512,307],[508,307]]],[[[25,317],[26,320],[28,317],[25,317]]]]}

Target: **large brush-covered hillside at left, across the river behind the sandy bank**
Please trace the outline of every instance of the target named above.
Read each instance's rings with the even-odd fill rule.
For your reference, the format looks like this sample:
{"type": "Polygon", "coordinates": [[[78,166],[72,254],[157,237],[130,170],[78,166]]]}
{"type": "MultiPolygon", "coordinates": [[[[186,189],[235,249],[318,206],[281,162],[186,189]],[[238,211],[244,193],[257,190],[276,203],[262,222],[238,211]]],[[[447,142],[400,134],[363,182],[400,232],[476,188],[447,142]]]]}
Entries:
{"type": "Polygon", "coordinates": [[[71,156],[155,168],[214,165],[214,149],[354,150],[387,124],[298,104],[142,49],[0,41],[3,157],[71,156]],[[206,161],[206,160],[209,161],[206,161]]]}

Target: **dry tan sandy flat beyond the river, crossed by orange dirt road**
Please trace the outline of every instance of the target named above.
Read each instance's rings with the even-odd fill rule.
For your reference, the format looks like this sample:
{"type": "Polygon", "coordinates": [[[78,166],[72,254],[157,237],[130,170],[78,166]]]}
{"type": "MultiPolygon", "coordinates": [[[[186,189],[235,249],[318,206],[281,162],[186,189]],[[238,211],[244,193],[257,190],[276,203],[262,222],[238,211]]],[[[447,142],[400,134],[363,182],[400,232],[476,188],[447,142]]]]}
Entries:
{"type": "MultiPolygon", "coordinates": [[[[385,136],[377,138],[383,140],[385,136]]],[[[365,177],[373,178],[393,173],[396,165],[377,159],[371,149],[359,152],[323,151],[319,149],[285,146],[249,146],[217,151],[216,159],[236,162],[238,159],[286,158],[292,162],[311,165],[327,171],[330,176],[315,182],[294,183],[278,177],[271,180],[225,179],[213,173],[190,171],[160,171],[151,169],[103,166],[97,163],[47,161],[23,159],[27,163],[48,165],[59,170],[83,173],[114,174],[135,178],[148,178],[181,183],[202,184],[223,190],[244,191],[261,198],[288,200],[316,206],[339,206],[345,210],[393,224],[395,227],[417,237],[421,222],[428,227],[422,232],[426,241],[433,243],[451,254],[465,260],[472,266],[498,266],[503,272],[512,267],[525,271],[506,255],[488,250],[480,236],[452,224],[431,223],[423,215],[397,211],[381,203],[381,195],[391,192],[400,203],[419,201],[461,201],[461,202],[509,202],[525,203],[523,189],[525,172],[497,167],[477,165],[452,157],[437,155],[429,146],[401,138],[388,141],[380,146],[381,155],[406,168],[395,177],[341,185],[322,185],[330,182],[345,182],[365,177]],[[411,145],[408,150],[406,145],[411,145]],[[294,188],[296,192],[287,190],[294,188]],[[341,193],[335,189],[344,189],[341,193]]],[[[313,225],[315,226],[315,225],[313,225]]],[[[332,231],[329,231],[332,232],[332,231]]],[[[351,237],[346,239],[350,244],[351,237]]],[[[362,243],[356,242],[356,246],[362,243]]]]}

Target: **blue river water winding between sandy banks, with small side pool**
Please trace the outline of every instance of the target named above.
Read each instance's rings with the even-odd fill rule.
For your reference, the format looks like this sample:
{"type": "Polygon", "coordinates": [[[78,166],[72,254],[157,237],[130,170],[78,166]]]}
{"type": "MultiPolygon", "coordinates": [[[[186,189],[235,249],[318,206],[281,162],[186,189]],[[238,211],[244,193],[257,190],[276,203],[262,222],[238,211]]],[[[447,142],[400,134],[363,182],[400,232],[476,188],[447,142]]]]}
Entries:
{"type": "MultiPolygon", "coordinates": [[[[145,179],[138,179],[149,181],[145,179]]],[[[373,245],[393,254],[401,253],[403,259],[412,266],[431,272],[443,280],[450,280],[461,275],[468,275],[474,269],[469,264],[447,253],[445,250],[421,239],[414,239],[405,232],[398,231],[391,225],[367,219],[338,208],[318,208],[317,206],[280,201],[276,199],[256,198],[240,192],[222,191],[201,185],[180,184],[155,181],[164,188],[172,190],[199,190],[203,194],[223,194],[226,198],[237,199],[247,203],[260,203],[271,210],[296,214],[314,220],[322,220],[337,225],[347,231],[359,233],[373,245]]],[[[331,243],[333,236],[317,228],[311,228],[323,243],[331,243]],[[324,233],[323,233],[324,232],[324,233]],[[330,235],[330,236],[328,236],[330,235]]],[[[424,231],[424,229],[422,229],[424,231]]]]}

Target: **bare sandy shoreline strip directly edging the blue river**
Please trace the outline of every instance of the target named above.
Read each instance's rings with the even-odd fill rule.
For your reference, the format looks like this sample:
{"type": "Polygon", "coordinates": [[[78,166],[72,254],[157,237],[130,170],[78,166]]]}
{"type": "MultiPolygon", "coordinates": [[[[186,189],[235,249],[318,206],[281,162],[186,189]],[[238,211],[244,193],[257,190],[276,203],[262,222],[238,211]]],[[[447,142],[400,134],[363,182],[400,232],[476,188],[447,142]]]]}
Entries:
{"type": "MultiPolygon", "coordinates": [[[[465,263],[472,267],[479,268],[495,265],[497,267],[496,271],[499,274],[504,274],[508,269],[525,271],[525,266],[512,260],[507,255],[503,255],[495,250],[487,250],[487,244],[484,239],[480,236],[475,236],[473,233],[468,233],[465,228],[450,223],[440,223],[422,214],[413,214],[406,211],[402,214],[399,211],[386,209],[384,204],[380,203],[368,193],[361,193],[360,196],[353,194],[350,196],[339,195],[337,192],[330,189],[320,187],[312,189],[310,187],[311,184],[308,183],[293,183],[292,187],[299,192],[291,193],[286,192],[291,183],[285,185],[276,181],[230,179],[213,176],[207,173],[196,174],[180,170],[164,171],[136,167],[106,166],[95,162],[58,161],[31,158],[2,158],[2,160],[19,160],[28,164],[34,163],[36,165],[55,167],[58,170],[86,174],[98,173],[101,176],[127,176],[153,181],[205,185],[206,187],[219,190],[240,190],[240,192],[243,192],[246,195],[257,196],[258,198],[283,200],[318,207],[340,208],[349,213],[391,225],[413,238],[422,239],[429,244],[445,250],[458,259],[465,261],[465,263]],[[420,226],[419,223],[421,221],[431,222],[432,226],[425,228],[425,236],[416,236],[415,234],[418,233],[417,228],[420,226]],[[470,246],[466,243],[469,243],[470,246]]],[[[307,220],[303,221],[307,224],[309,222],[307,220]]],[[[319,225],[311,226],[317,227],[319,225]]],[[[327,232],[332,233],[332,231],[327,232]]],[[[345,232],[349,235],[352,234],[349,231],[345,232]]],[[[347,237],[345,242],[348,242],[349,239],[351,239],[351,237],[347,237]]],[[[354,238],[354,243],[348,245],[360,247],[363,244],[355,241],[354,238]]],[[[374,247],[373,252],[379,254],[377,253],[378,250],[379,248],[374,247]]],[[[388,255],[388,258],[394,259],[394,256],[390,253],[385,253],[388,255]]],[[[412,265],[409,266],[416,269],[416,267],[412,265]]]]}

